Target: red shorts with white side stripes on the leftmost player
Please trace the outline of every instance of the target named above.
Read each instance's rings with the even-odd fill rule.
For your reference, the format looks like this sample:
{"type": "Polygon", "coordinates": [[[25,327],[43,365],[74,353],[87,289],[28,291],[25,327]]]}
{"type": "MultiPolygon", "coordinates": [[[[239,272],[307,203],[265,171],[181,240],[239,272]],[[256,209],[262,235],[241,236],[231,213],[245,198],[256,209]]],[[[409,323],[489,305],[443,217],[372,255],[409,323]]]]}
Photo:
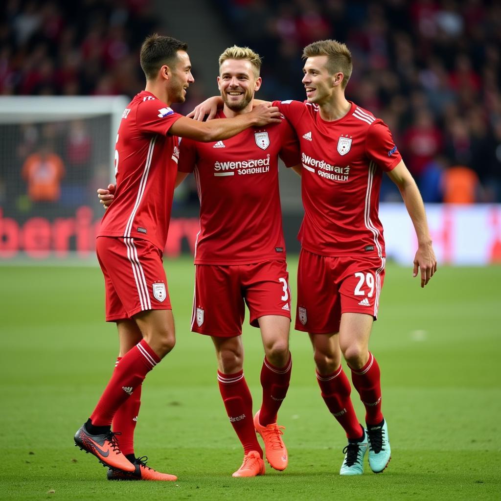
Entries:
{"type": "Polygon", "coordinates": [[[96,253],[106,288],[106,321],[171,310],[162,253],[148,240],[100,236],[96,253]]]}

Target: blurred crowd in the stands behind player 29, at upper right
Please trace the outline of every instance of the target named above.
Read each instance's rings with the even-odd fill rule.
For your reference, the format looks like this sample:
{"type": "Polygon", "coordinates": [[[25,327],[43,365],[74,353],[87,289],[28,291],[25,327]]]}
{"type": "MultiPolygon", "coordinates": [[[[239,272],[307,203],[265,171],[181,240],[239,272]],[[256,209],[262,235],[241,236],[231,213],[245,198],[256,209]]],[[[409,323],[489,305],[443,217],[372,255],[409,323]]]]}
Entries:
{"type": "MultiPolygon", "coordinates": [[[[501,3],[214,1],[264,57],[260,97],[304,99],[303,47],[345,42],[346,95],[382,118],[429,202],[501,201],[501,3]]],[[[383,199],[398,198],[391,183],[383,199]]]]}

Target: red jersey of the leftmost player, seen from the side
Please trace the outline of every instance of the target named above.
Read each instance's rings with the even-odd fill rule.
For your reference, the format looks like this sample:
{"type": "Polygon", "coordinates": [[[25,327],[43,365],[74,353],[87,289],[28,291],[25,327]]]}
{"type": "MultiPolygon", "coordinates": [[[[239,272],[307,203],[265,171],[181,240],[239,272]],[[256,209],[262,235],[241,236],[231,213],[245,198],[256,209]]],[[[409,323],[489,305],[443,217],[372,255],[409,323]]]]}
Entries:
{"type": "Polygon", "coordinates": [[[115,199],[98,236],[142,238],[163,250],[179,158],[179,139],[168,131],[181,116],[146,91],[128,104],[117,134],[115,199]]]}

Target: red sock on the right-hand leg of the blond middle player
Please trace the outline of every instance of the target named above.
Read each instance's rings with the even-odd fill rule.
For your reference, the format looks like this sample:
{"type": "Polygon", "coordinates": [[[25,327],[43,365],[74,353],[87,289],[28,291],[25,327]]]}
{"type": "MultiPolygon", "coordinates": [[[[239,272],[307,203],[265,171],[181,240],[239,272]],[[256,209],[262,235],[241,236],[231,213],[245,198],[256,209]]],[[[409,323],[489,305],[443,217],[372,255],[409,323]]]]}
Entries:
{"type": "Polygon", "coordinates": [[[261,369],[261,386],[263,387],[263,404],[259,413],[259,421],[263,426],[277,422],[277,412],[287,395],[291,380],[292,356],[285,367],[275,367],[265,357],[261,369]]]}

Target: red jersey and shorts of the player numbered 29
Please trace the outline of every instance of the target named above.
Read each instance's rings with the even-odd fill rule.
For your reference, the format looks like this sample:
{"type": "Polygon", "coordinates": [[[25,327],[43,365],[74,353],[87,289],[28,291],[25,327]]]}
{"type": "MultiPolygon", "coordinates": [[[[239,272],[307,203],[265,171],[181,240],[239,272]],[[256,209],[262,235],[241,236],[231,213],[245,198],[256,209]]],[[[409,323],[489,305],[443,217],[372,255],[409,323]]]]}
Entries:
{"type": "Polygon", "coordinates": [[[339,331],[341,313],[377,317],[385,248],[379,220],[382,173],[400,161],[387,125],[351,103],[327,122],[311,103],[276,101],[301,145],[305,216],[299,231],[296,329],[339,331]]]}

